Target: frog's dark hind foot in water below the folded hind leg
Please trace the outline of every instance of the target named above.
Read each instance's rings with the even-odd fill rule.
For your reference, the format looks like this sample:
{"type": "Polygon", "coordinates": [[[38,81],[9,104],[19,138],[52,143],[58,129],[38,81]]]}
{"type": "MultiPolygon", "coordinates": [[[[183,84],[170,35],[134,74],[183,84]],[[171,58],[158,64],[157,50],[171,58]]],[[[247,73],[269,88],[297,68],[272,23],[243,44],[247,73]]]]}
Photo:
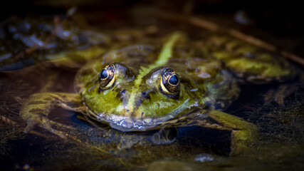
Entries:
{"type": "Polygon", "coordinates": [[[278,105],[284,105],[284,98],[295,92],[300,87],[300,83],[285,83],[278,86],[277,89],[268,90],[264,98],[264,105],[268,105],[272,101],[278,105]]]}

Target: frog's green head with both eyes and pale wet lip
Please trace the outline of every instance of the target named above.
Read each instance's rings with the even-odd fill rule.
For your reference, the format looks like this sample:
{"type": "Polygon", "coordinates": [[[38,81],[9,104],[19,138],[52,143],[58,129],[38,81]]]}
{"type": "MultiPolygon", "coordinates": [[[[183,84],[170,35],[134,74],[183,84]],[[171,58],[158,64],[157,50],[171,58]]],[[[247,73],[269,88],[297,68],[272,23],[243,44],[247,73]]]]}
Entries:
{"type": "Polygon", "coordinates": [[[142,74],[147,69],[135,71],[122,63],[105,66],[98,84],[83,91],[90,117],[117,130],[143,131],[201,107],[189,78],[167,66],[142,74]]]}

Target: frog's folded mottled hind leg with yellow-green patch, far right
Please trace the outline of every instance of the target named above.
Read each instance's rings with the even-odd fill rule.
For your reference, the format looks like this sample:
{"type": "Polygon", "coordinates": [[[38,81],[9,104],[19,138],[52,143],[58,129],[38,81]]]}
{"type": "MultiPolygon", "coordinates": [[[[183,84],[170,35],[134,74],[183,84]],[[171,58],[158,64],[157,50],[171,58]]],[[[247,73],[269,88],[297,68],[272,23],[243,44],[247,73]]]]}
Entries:
{"type": "Polygon", "coordinates": [[[285,58],[229,36],[211,36],[209,53],[238,78],[255,83],[290,81],[297,71],[285,58]]]}

